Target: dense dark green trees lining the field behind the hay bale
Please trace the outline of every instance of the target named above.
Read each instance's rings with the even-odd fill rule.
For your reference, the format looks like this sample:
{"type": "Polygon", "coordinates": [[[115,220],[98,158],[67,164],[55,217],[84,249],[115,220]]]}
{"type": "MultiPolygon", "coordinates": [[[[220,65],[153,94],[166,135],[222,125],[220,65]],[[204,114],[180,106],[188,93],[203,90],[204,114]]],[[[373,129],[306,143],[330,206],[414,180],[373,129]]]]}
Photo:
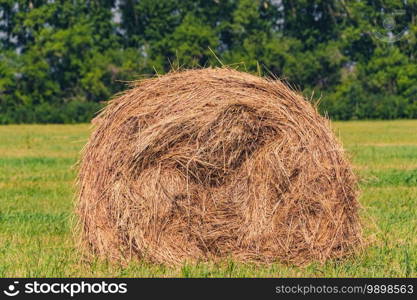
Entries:
{"type": "Polygon", "coordinates": [[[333,119],[417,118],[417,0],[0,0],[0,124],[85,122],[127,82],[230,65],[333,119]]]}

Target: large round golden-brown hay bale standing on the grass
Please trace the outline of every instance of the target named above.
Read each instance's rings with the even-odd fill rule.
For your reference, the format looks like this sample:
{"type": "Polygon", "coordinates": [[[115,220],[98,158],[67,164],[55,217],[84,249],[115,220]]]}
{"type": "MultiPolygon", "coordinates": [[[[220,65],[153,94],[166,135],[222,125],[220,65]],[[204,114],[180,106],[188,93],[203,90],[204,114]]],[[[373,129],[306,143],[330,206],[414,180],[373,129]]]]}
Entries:
{"type": "Polygon", "coordinates": [[[110,259],[305,264],[361,241],[357,184],[328,121],[236,70],[134,84],[96,118],[78,175],[82,241],[110,259]]]}

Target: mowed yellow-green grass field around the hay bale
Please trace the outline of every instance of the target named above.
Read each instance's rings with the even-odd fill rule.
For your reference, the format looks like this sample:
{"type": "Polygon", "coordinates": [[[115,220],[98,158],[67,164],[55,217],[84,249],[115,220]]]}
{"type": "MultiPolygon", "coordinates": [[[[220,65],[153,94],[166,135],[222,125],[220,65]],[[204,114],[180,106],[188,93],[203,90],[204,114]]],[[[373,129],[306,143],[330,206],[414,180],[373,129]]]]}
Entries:
{"type": "Polygon", "coordinates": [[[416,277],[417,121],[334,123],[360,177],[370,245],[298,268],[85,261],[72,235],[73,168],[89,125],[0,126],[0,277],[416,277]]]}

